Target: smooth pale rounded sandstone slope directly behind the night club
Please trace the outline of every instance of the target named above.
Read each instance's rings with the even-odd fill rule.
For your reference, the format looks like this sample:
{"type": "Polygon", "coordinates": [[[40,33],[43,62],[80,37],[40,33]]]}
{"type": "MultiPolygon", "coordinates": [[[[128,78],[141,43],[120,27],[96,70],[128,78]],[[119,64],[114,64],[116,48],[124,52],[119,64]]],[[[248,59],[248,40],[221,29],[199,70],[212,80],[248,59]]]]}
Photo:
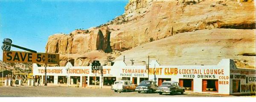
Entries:
{"type": "MultiPolygon", "coordinates": [[[[198,30],[176,34],[161,40],[139,45],[124,51],[125,63],[143,65],[149,59],[156,59],[160,65],[217,65],[221,59],[234,59],[255,68],[255,29],[198,30]]],[[[123,60],[123,56],[115,60],[123,60]]]]}

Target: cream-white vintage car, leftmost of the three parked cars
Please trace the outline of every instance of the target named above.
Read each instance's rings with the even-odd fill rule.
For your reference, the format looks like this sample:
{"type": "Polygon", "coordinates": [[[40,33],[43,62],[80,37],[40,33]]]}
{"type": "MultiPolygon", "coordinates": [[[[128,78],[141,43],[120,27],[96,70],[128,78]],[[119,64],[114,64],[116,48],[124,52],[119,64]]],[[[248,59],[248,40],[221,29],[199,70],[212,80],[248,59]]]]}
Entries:
{"type": "Polygon", "coordinates": [[[115,92],[117,91],[135,91],[135,88],[137,87],[137,84],[132,84],[130,80],[119,80],[115,81],[112,86],[112,90],[115,92]]]}

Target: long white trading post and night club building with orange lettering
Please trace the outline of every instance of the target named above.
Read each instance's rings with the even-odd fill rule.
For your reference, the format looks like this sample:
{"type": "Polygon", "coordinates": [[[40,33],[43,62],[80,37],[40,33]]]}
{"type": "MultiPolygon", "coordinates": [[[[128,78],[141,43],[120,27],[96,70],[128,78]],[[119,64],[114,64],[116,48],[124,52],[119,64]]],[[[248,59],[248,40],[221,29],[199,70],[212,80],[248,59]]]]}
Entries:
{"type": "MultiPolygon", "coordinates": [[[[186,92],[243,95],[254,94],[256,70],[236,68],[232,59],[221,59],[217,65],[160,65],[156,60],[146,65],[126,65],[116,61],[113,66],[102,66],[101,71],[92,71],[91,66],[47,67],[48,85],[77,87],[111,87],[116,80],[131,80],[140,84],[153,80],[157,85],[164,81],[177,81],[186,92]],[[95,77],[96,74],[96,77],[95,77]],[[149,79],[148,79],[149,77],[149,79]],[[96,79],[96,81],[95,81],[96,79]]],[[[33,65],[33,75],[45,81],[45,67],[33,65]]]]}

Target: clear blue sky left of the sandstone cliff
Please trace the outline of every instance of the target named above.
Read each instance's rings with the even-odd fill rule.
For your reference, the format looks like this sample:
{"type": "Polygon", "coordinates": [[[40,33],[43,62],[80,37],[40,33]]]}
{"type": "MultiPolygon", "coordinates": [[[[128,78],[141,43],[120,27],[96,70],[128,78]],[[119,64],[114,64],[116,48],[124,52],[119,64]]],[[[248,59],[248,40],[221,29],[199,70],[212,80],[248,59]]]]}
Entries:
{"type": "MultiPolygon", "coordinates": [[[[128,0],[0,0],[0,40],[45,52],[47,39],[99,26],[124,13],[128,0]]],[[[2,46],[2,43],[0,44],[2,46]]],[[[23,51],[12,47],[13,51],[23,51]]],[[[3,51],[0,50],[0,59],[3,51]]]]}

